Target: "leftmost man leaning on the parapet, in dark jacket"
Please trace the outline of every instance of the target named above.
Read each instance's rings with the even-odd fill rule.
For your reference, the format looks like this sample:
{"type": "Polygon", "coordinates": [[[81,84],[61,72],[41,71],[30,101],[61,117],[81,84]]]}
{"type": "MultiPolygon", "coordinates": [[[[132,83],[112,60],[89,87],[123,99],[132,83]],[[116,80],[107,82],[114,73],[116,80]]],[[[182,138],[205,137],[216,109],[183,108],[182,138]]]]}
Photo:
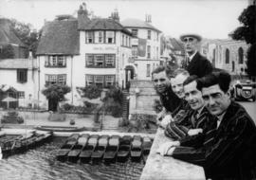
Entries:
{"type": "Polygon", "coordinates": [[[163,111],[158,115],[160,119],[168,113],[173,113],[180,104],[180,99],[175,96],[171,87],[170,76],[172,73],[173,71],[170,66],[163,65],[157,66],[152,72],[155,90],[163,106],[163,111]]]}

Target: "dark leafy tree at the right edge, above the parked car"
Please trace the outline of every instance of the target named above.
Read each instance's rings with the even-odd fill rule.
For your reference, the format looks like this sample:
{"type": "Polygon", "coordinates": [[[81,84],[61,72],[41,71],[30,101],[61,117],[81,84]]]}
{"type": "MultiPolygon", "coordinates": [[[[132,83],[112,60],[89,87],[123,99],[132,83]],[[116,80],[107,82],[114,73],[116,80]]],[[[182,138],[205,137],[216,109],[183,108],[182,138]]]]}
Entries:
{"type": "Polygon", "coordinates": [[[247,51],[247,74],[249,77],[256,76],[256,6],[252,5],[244,9],[238,20],[243,27],[237,27],[231,37],[251,45],[247,51]]]}

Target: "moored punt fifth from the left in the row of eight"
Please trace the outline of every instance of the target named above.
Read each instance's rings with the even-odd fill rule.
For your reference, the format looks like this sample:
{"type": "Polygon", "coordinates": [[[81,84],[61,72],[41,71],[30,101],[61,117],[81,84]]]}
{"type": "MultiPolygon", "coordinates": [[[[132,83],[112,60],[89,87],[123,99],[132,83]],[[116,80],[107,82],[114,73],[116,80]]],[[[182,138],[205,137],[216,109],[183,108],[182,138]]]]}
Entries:
{"type": "Polygon", "coordinates": [[[110,162],[115,160],[119,151],[119,139],[119,135],[112,135],[109,138],[108,146],[106,147],[106,151],[103,155],[104,162],[110,162]]]}

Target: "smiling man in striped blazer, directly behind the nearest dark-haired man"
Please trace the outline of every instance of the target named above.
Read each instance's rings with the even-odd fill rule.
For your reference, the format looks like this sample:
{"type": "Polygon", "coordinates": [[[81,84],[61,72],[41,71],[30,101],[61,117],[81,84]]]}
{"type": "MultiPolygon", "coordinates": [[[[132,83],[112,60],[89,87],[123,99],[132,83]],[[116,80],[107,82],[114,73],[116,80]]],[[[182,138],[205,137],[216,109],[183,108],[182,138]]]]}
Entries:
{"type": "MultiPolygon", "coordinates": [[[[165,135],[173,139],[181,140],[186,136],[205,133],[206,129],[212,127],[214,117],[210,115],[204,106],[204,99],[201,91],[197,89],[197,77],[191,76],[183,83],[185,99],[191,107],[186,117],[179,121],[171,122],[165,129],[165,135]],[[209,126],[209,121],[212,121],[209,126]]],[[[194,138],[194,137],[193,137],[194,138]]],[[[188,139],[186,139],[188,140],[188,139]]],[[[184,139],[183,139],[184,141],[184,139]]],[[[183,146],[185,143],[182,144],[183,146]]],[[[188,144],[187,144],[188,145],[188,144]]]]}

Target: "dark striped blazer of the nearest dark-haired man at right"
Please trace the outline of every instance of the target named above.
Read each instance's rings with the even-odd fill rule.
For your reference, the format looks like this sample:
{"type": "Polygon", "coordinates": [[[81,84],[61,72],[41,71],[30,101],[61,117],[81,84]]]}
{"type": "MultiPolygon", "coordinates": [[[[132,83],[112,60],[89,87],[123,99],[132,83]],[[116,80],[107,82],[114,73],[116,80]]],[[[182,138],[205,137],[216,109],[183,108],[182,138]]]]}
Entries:
{"type": "Polygon", "coordinates": [[[255,178],[256,127],[244,107],[231,102],[210,136],[200,148],[176,147],[174,158],[203,166],[211,179],[255,178]]]}

